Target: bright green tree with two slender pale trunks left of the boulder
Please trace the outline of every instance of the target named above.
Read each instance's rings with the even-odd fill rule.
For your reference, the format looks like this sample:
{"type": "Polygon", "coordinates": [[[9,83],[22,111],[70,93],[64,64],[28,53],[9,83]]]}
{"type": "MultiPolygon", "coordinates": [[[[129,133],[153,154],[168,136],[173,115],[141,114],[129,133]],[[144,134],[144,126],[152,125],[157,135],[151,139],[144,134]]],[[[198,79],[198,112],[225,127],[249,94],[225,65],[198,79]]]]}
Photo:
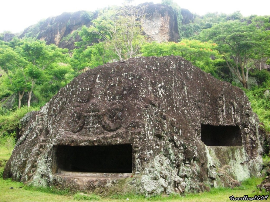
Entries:
{"type": "MultiPolygon", "coordinates": [[[[30,107],[32,92],[36,84],[48,80],[48,71],[57,67],[61,68],[60,62],[68,62],[68,50],[58,48],[53,44],[46,45],[45,41],[22,40],[21,44],[15,46],[15,51],[19,61],[16,63],[16,82],[13,90],[20,95],[19,108],[22,96],[27,91],[28,107],[30,107]]],[[[12,84],[11,78],[10,83],[12,84]]]]}

